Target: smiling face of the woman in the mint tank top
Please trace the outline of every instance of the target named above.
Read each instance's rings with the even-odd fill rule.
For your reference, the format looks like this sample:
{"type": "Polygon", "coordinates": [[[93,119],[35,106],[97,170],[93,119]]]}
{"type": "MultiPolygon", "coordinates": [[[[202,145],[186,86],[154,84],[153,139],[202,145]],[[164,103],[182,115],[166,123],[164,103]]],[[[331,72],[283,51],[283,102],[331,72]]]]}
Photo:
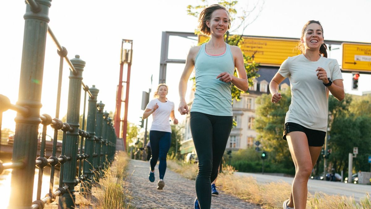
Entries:
{"type": "Polygon", "coordinates": [[[223,37],[228,30],[229,15],[226,10],[215,10],[210,20],[206,21],[207,27],[210,28],[210,34],[218,38],[223,37]]]}

